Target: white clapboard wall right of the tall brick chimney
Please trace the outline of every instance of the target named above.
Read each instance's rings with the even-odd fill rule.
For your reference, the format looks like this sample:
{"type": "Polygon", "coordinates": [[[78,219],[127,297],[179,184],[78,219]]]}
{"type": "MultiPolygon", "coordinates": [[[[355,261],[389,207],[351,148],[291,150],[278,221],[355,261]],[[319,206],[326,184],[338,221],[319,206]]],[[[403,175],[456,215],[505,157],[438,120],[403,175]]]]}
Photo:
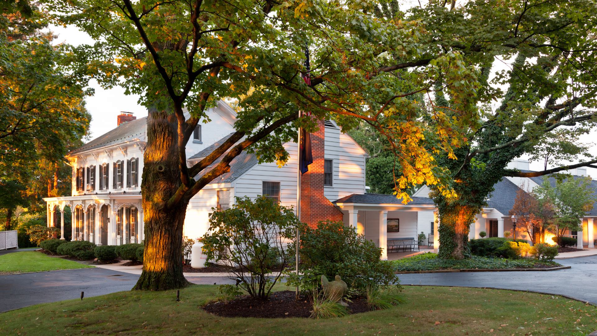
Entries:
{"type": "Polygon", "coordinates": [[[336,127],[325,127],[325,158],[333,160],[333,185],[324,187],[330,201],[365,193],[365,151],[336,127]]]}

